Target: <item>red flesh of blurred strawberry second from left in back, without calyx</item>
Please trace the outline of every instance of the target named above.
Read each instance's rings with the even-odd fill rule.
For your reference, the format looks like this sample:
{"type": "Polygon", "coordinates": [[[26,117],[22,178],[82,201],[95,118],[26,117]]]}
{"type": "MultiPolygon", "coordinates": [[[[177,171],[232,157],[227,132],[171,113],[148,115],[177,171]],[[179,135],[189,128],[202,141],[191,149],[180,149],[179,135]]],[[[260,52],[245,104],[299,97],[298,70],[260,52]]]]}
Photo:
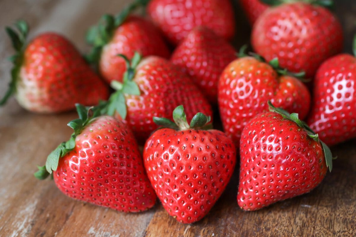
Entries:
{"type": "Polygon", "coordinates": [[[157,55],[169,58],[170,52],[158,28],[142,17],[129,16],[115,29],[111,41],[106,44],[100,56],[100,74],[109,83],[122,81],[126,71],[126,63],[118,54],[125,55],[129,60],[135,52],[142,56],[157,55]]]}

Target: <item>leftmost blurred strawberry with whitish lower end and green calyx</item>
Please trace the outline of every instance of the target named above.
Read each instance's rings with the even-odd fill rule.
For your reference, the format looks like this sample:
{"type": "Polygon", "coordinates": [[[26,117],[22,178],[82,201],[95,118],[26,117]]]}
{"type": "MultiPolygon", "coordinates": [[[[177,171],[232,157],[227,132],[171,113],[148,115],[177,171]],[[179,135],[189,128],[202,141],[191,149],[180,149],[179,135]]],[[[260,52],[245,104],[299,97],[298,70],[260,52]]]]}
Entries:
{"type": "Polygon", "coordinates": [[[85,63],[74,45],[57,33],[43,33],[25,44],[28,25],[17,21],[16,29],[6,27],[16,54],[10,58],[9,90],[0,105],[12,94],[32,112],[57,113],[75,108],[75,103],[97,104],[109,91],[85,63]]]}

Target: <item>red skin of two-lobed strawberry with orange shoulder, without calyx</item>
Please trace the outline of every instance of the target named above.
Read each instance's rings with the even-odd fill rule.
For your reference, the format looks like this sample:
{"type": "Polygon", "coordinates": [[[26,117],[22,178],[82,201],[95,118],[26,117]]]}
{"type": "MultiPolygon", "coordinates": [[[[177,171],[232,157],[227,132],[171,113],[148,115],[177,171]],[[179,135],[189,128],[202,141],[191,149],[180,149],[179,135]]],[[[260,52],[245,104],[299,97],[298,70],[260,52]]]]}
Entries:
{"type": "Polygon", "coordinates": [[[232,61],[219,81],[218,102],[225,133],[239,146],[241,131],[255,115],[274,106],[299,113],[304,119],[310,108],[307,87],[291,76],[278,76],[268,65],[253,57],[232,61]]]}

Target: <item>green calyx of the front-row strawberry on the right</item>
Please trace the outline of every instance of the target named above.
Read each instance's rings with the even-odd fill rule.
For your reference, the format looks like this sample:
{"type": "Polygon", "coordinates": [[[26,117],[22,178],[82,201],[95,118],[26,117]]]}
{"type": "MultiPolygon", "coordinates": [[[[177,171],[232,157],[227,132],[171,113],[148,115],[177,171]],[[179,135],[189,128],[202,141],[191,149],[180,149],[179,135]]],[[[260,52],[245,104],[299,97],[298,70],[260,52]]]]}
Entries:
{"type": "Polygon", "coordinates": [[[291,120],[293,122],[295,122],[296,124],[298,124],[298,126],[300,126],[301,128],[303,128],[305,131],[307,131],[308,136],[310,138],[312,138],[313,140],[320,142],[321,146],[323,147],[323,151],[324,151],[324,156],[325,156],[325,161],[326,161],[326,167],[329,168],[329,171],[331,172],[331,169],[333,169],[333,155],[331,154],[330,148],[319,139],[319,135],[317,133],[315,133],[308,125],[307,123],[305,123],[304,121],[300,120],[298,117],[297,113],[288,113],[287,111],[285,111],[282,108],[276,108],[273,106],[273,104],[271,103],[271,101],[268,101],[268,106],[269,106],[269,111],[272,112],[276,112],[280,115],[282,115],[282,117],[284,119],[288,119],[291,120]]]}

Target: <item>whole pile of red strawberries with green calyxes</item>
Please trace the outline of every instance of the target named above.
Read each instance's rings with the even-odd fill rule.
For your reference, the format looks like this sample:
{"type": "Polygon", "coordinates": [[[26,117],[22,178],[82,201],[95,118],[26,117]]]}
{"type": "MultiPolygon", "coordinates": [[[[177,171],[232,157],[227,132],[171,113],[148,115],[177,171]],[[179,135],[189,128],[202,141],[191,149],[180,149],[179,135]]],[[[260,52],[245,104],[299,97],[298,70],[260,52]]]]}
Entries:
{"type": "Polygon", "coordinates": [[[57,33],[26,42],[23,20],[7,27],[16,53],[0,105],[15,95],[31,112],[78,112],[35,177],[125,212],[158,197],[182,223],[208,214],[236,163],[245,211],[317,187],[328,145],[356,138],[356,58],[340,54],[330,1],[240,1],[255,52],[230,44],[229,0],[134,0],[88,30],[84,56],[57,33]]]}

